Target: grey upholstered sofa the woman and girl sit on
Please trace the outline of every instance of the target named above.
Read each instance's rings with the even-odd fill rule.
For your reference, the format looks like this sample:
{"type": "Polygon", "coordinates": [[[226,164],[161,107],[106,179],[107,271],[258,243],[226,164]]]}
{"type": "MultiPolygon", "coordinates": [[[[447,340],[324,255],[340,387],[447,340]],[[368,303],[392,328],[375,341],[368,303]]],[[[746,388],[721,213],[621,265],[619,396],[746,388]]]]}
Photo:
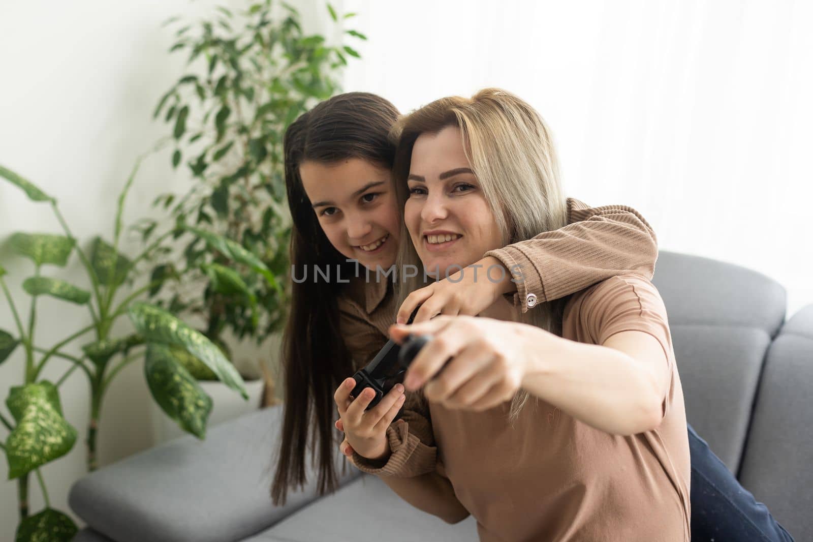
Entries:
{"type": "MultiPolygon", "coordinates": [[[[796,540],[813,540],[813,305],[785,322],[783,288],[749,269],[661,252],[654,277],[672,328],[689,422],[796,540]]],[[[284,507],[268,496],[280,407],[181,437],[86,475],[70,494],[75,540],[476,540],[346,470],[284,507]]],[[[345,461],[343,458],[338,460],[345,461]]]]}

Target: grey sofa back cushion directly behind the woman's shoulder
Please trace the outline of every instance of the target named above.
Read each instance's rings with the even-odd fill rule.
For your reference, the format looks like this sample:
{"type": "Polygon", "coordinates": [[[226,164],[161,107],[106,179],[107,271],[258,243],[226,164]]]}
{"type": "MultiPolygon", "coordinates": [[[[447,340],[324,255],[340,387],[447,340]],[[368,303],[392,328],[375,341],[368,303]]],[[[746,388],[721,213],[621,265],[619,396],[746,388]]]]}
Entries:
{"type": "Polygon", "coordinates": [[[661,251],[653,278],[669,317],[686,418],[737,473],[785,289],[734,264],[661,251]]]}

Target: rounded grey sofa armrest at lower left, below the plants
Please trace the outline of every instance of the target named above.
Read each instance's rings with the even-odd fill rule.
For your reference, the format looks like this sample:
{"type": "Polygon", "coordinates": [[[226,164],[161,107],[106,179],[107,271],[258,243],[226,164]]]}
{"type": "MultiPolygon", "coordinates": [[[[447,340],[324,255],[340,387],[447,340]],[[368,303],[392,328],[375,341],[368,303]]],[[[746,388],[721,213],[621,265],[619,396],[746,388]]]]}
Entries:
{"type": "MultiPolygon", "coordinates": [[[[128,457],[74,483],[68,503],[117,542],[241,540],[317,498],[309,472],[304,491],[272,505],[281,418],[281,406],[269,407],[211,427],[203,441],[185,435],[128,457]]],[[[360,474],[346,468],[341,484],[360,474]]]]}

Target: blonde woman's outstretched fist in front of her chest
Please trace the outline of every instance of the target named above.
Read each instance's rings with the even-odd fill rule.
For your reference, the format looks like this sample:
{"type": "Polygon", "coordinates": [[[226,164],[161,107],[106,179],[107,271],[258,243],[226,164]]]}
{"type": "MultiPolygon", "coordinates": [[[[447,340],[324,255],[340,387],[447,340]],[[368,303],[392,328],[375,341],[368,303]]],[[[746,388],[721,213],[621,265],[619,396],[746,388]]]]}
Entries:
{"type": "Polygon", "coordinates": [[[528,369],[528,348],[545,346],[528,335],[529,329],[492,318],[441,316],[391,326],[389,335],[398,343],[407,334],[433,336],[406,370],[407,390],[424,387],[428,400],[447,409],[482,411],[511,400],[528,369]]]}

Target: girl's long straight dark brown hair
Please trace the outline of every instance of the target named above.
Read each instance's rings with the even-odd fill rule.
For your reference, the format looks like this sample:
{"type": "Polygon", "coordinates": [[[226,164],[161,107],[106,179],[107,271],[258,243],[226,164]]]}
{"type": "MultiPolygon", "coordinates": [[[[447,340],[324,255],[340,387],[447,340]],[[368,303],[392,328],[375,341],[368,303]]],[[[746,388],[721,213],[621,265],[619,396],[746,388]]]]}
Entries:
{"type": "MultiPolygon", "coordinates": [[[[375,94],[351,92],[330,98],[302,114],[285,131],[285,186],[293,217],[291,263],[297,277],[314,266],[341,267],[350,277],[354,265],[325,236],[302,187],[299,165],[306,160],[332,164],[360,158],[392,168],[395,146],[389,129],[398,110],[375,94]]],[[[317,471],[320,495],[338,485],[334,467],[337,448],[333,427],[333,393],[354,373],[353,361],[339,331],[337,297],[341,283],[292,282],[292,303],[283,335],[284,421],[271,495],[285,504],[292,487],[307,483],[307,451],[317,471]]]]}

